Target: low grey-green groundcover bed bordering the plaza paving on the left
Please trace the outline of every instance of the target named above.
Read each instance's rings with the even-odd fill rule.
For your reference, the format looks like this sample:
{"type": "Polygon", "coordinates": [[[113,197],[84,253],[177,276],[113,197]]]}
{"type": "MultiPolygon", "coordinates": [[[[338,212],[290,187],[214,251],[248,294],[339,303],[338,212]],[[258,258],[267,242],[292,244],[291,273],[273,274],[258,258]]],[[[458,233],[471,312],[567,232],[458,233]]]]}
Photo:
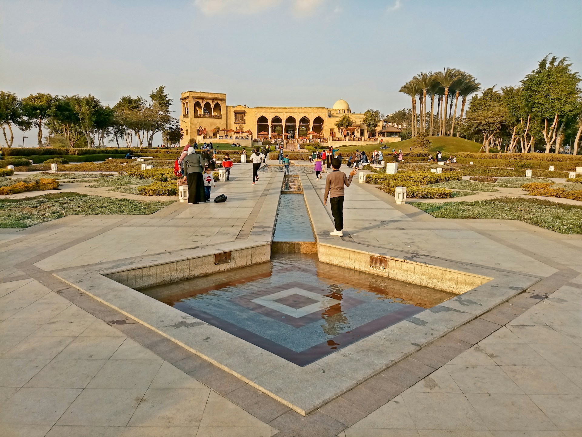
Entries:
{"type": "Polygon", "coordinates": [[[77,214],[152,214],[173,202],[175,200],[140,202],[79,193],[51,193],[26,199],[0,199],[0,228],[27,228],[77,214]]]}

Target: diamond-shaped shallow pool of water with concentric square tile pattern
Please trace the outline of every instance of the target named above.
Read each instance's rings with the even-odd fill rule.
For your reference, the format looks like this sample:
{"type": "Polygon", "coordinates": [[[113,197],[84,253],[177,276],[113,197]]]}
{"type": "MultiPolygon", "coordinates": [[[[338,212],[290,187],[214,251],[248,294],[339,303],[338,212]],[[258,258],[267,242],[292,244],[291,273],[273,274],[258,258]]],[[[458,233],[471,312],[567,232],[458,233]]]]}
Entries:
{"type": "Polygon", "coordinates": [[[301,366],[455,296],[306,254],[140,291],[301,366]]]}

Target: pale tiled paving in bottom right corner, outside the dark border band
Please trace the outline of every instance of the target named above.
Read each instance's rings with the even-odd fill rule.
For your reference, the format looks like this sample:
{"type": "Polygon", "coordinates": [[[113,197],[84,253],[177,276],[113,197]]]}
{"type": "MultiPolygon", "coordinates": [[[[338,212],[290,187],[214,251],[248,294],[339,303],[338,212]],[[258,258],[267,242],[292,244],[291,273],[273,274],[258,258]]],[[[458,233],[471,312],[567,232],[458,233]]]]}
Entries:
{"type": "MultiPolygon", "coordinates": [[[[417,362],[420,367],[423,364],[417,362]]],[[[582,435],[582,285],[564,286],[342,432],[582,435]]]]}

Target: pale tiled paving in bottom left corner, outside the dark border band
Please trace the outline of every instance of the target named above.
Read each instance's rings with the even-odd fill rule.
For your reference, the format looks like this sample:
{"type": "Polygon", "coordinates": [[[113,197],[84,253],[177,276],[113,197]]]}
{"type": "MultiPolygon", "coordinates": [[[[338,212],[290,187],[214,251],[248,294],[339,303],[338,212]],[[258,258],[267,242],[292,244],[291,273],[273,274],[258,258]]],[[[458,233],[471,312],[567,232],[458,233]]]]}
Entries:
{"type": "Polygon", "coordinates": [[[0,320],[2,437],[276,432],[36,280],[0,284],[0,320]]]}

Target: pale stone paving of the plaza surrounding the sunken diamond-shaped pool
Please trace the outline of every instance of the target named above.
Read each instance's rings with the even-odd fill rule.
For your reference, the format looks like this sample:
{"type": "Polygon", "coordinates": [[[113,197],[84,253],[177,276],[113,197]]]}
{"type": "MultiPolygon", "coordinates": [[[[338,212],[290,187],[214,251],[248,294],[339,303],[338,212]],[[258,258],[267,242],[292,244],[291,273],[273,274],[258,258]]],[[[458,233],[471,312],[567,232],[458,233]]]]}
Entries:
{"type": "MultiPolygon", "coordinates": [[[[581,235],[519,221],[437,219],[354,180],[346,189],[341,244],[442,266],[463,263],[533,285],[401,354],[402,361],[306,417],[55,276],[264,241],[282,182],[282,172],[270,170],[252,186],[250,164],[236,165],[231,182],[213,189],[212,197],[228,196],[223,204],[176,202],[150,216],[68,216],[0,230],[0,435],[582,435],[581,235]]],[[[305,171],[300,179],[317,238],[328,241],[325,174],[316,180],[305,171]]],[[[62,188],[112,193],[81,185],[62,188]]],[[[293,306],[292,296],[314,297],[278,298],[293,306]]],[[[463,305],[462,296],[456,302],[463,305]]],[[[291,377],[288,384],[294,385],[291,377]]]]}

